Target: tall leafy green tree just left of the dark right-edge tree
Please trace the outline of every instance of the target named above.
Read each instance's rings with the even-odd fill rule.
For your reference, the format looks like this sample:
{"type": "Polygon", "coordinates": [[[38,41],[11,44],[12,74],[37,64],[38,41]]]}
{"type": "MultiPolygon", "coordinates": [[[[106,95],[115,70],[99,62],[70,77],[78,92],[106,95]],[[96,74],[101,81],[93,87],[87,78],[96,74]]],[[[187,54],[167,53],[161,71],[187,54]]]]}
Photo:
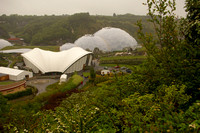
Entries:
{"type": "Polygon", "coordinates": [[[149,21],[153,23],[155,35],[144,34],[141,23],[138,22],[137,25],[138,36],[148,54],[144,79],[149,84],[150,90],[154,90],[161,84],[170,85],[180,74],[178,69],[183,56],[178,50],[182,40],[178,35],[177,21],[173,13],[176,9],[175,0],[148,0],[147,5],[149,21]]]}

